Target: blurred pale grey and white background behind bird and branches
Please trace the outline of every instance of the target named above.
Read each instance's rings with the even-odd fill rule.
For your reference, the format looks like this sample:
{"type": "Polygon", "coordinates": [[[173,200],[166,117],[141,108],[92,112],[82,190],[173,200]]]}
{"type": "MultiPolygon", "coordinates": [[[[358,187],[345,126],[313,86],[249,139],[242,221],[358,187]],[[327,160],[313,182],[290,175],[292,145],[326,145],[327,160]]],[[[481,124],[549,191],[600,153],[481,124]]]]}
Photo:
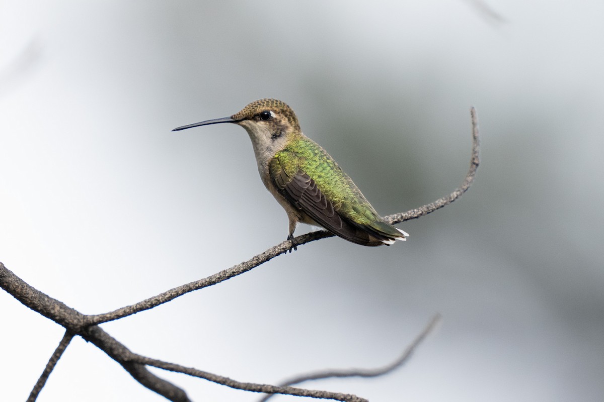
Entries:
{"type": "MultiPolygon", "coordinates": [[[[601,401],[603,17],[596,0],[2,1],[0,261],[83,313],[132,304],[287,235],[242,128],[172,128],[282,99],[388,215],[461,184],[474,105],[477,181],[400,224],[407,242],[313,242],[102,327],[137,353],[276,383],[384,365],[440,312],[396,372],[306,386],[601,401]]],[[[22,401],[63,330],[4,292],[0,308],[0,399],[22,401]]],[[[194,401],[259,397],[159,375],[194,401]]],[[[164,399],[77,338],[39,400],[164,399]]]]}

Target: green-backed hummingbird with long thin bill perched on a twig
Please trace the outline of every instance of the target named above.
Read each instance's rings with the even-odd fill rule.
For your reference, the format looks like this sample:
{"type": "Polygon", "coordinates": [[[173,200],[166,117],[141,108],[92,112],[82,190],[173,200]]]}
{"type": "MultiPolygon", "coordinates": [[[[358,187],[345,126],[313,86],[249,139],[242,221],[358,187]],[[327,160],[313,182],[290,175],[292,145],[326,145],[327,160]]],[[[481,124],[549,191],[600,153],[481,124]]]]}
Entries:
{"type": "Polygon", "coordinates": [[[220,123],[234,123],[248,132],[262,183],[288,214],[294,250],[300,222],[365,246],[391,245],[409,236],[377,214],[335,160],[302,133],[294,110],[284,102],[259,99],[233,116],[172,131],[220,123]]]}

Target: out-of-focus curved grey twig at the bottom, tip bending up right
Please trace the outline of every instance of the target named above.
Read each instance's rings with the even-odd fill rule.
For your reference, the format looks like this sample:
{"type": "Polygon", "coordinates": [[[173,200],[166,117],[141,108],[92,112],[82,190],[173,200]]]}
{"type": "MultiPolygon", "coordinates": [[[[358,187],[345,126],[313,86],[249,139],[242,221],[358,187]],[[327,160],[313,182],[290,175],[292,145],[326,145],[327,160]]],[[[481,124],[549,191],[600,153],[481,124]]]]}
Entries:
{"type": "MultiPolygon", "coordinates": [[[[350,378],[350,377],[379,377],[380,375],[388,374],[405,364],[417,349],[417,347],[423,342],[423,340],[434,330],[436,324],[440,321],[440,314],[434,315],[428,322],[423,331],[416,336],[416,338],[405,348],[405,351],[396,359],[385,366],[377,368],[350,368],[350,369],[327,369],[321,371],[310,372],[307,374],[296,375],[295,377],[288,378],[279,384],[281,387],[292,386],[303,383],[310,380],[324,380],[326,378],[350,378]]],[[[274,394],[268,394],[262,397],[258,402],[265,402],[269,398],[273,397],[274,394]]]]}

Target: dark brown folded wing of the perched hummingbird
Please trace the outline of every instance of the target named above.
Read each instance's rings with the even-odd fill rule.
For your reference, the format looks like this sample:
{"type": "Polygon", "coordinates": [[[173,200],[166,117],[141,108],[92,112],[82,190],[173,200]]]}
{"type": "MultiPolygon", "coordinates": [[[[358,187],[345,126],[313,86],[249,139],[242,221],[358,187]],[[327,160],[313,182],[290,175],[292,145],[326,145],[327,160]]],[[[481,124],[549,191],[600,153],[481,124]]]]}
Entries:
{"type": "Polygon", "coordinates": [[[278,192],[293,207],[306,213],[328,231],[362,245],[377,246],[384,243],[381,238],[372,236],[367,230],[339,215],[331,201],[316,186],[315,181],[303,171],[288,172],[281,166],[278,157],[271,160],[269,169],[278,192]]]}

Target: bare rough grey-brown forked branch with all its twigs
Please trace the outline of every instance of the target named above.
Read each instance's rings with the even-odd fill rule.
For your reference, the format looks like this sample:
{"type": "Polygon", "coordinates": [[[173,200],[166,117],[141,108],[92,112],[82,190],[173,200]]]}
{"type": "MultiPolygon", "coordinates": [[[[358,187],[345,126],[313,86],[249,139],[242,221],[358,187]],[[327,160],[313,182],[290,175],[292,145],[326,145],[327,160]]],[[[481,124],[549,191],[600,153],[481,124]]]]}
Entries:
{"type": "MultiPolygon", "coordinates": [[[[450,195],[438,199],[434,203],[427,204],[423,207],[405,213],[387,216],[385,217],[385,219],[388,222],[398,223],[408,221],[409,219],[419,218],[419,216],[434,212],[435,210],[440,209],[455,201],[455,199],[459,198],[469,188],[469,186],[471,186],[472,181],[474,181],[476,169],[478,168],[478,164],[480,162],[478,157],[478,122],[476,111],[474,110],[474,108],[472,108],[471,114],[472,159],[469,172],[467,173],[466,178],[464,179],[461,187],[455,189],[454,192],[452,192],[450,195]]],[[[231,380],[231,378],[228,377],[222,377],[220,375],[211,374],[208,372],[200,371],[198,369],[185,368],[184,366],[179,366],[174,363],[162,362],[161,360],[140,356],[138,354],[132,353],[123,344],[118,342],[116,339],[112,338],[103,329],[98,327],[98,324],[101,324],[102,322],[112,321],[115,319],[135,314],[137,312],[141,312],[143,310],[151,309],[155,306],[158,306],[159,304],[166,303],[167,301],[173,300],[176,297],[184,295],[188,292],[195,291],[197,289],[202,289],[204,287],[211,286],[213,284],[217,284],[222,281],[233,278],[237,275],[243,274],[244,272],[247,272],[255,268],[256,266],[259,266],[262,263],[265,263],[280,254],[286,253],[286,251],[290,250],[292,243],[294,245],[303,245],[305,243],[312,242],[313,240],[323,239],[324,237],[330,236],[333,235],[325,231],[318,231],[309,234],[304,234],[303,236],[295,237],[293,242],[286,240],[285,242],[276,245],[275,247],[269,248],[269,250],[266,250],[264,253],[255,256],[247,262],[240,263],[199,281],[194,281],[179,287],[175,287],[170,291],[141,301],[140,303],[133,304],[132,306],[123,307],[121,309],[115,310],[114,312],[104,313],[100,315],[83,315],[77,310],[66,306],[66,304],[60,302],[59,300],[56,300],[46,294],[43,294],[34,287],[25,283],[25,281],[23,281],[17,275],[14,275],[13,272],[8,270],[4,266],[4,264],[0,262],[0,287],[2,287],[2,289],[8,292],[8,294],[13,295],[14,298],[19,300],[25,306],[29,307],[30,309],[40,313],[41,315],[47,318],[50,318],[51,320],[53,320],[57,324],[62,325],[66,329],[66,333],[65,336],[63,336],[63,340],[60,342],[59,347],[57,347],[57,350],[54,352],[53,356],[51,356],[47,367],[40,376],[38,382],[36,383],[36,386],[34,386],[33,391],[31,391],[30,400],[34,401],[36,399],[37,395],[40,392],[40,389],[43,388],[43,385],[45,384],[48,375],[50,375],[50,372],[53,370],[57,360],[59,360],[59,357],[62,355],[63,351],[68,346],[71,338],[75,335],[79,335],[82,336],[82,338],[86,341],[92,342],[92,344],[96,345],[98,348],[108,354],[109,357],[114,359],[116,362],[120,363],[120,365],[123,366],[123,368],[126,369],[126,371],[129,372],[133,378],[135,378],[135,380],[141,383],[141,385],[145,386],[146,388],[149,388],[154,392],[157,392],[160,395],[163,395],[168,400],[174,402],[189,402],[190,400],[187,397],[187,394],[182,389],[178,388],[170,382],[167,382],[166,380],[163,380],[162,378],[157,377],[155,374],[152,374],[149,370],[147,370],[147,365],[156,366],[158,368],[170,371],[183,372],[185,374],[205,378],[221,385],[229,386],[231,388],[236,389],[244,389],[246,391],[265,392],[269,394],[288,394],[313,398],[333,399],[347,402],[365,401],[363,398],[350,394],[339,394],[327,391],[313,391],[309,389],[293,388],[291,386],[272,386],[237,382],[235,380],[231,380]]],[[[431,325],[424,331],[424,333],[420,334],[419,338],[416,339],[416,342],[414,342],[414,344],[410,346],[409,353],[413,351],[417,344],[425,337],[430,328],[431,325]]],[[[301,382],[304,380],[326,377],[372,377],[393,370],[394,368],[405,362],[407,357],[408,356],[406,356],[406,354],[403,354],[403,356],[400,357],[396,362],[384,368],[378,368],[373,370],[355,369],[353,371],[321,372],[318,374],[315,373],[312,376],[306,375],[304,377],[294,378],[293,380],[295,380],[296,382],[301,382]]],[[[294,383],[292,382],[292,380],[290,380],[290,382],[294,383]]]]}

